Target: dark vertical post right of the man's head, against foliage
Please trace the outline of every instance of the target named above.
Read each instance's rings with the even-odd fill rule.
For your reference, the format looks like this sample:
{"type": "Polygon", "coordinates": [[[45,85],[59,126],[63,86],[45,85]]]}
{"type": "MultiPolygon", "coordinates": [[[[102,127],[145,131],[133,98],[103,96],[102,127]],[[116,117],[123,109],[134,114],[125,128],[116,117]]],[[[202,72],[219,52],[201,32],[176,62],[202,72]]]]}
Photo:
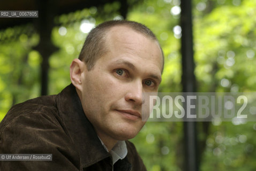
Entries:
{"type": "MultiPolygon", "coordinates": [[[[192,5],[191,0],[182,0],[180,25],[182,27],[182,85],[183,92],[195,92],[193,36],[192,36],[192,5]]],[[[197,137],[195,122],[184,122],[184,170],[198,170],[197,137]]]]}

